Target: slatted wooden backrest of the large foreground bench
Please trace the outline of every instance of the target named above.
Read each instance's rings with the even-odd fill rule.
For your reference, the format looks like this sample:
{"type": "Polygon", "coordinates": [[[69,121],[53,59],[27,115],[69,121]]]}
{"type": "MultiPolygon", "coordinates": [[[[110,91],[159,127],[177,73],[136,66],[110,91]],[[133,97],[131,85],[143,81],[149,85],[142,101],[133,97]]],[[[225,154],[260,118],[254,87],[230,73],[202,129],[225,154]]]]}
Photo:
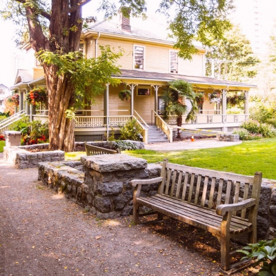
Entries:
{"type": "MultiPolygon", "coordinates": [[[[259,202],[262,173],[254,176],[237,175],[168,163],[164,159],[158,193],[214,209],[220,204],[232,204],[255,198],[259,202]]],[[[239,214],[246,217],[246,210],[239,214]]]]}

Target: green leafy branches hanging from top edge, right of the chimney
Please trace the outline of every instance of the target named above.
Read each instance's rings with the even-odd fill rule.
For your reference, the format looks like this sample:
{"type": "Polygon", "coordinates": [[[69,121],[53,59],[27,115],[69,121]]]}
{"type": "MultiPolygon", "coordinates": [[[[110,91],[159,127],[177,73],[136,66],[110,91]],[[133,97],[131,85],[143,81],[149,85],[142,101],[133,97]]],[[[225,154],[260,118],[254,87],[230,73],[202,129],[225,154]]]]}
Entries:
{"type": "Polygon", "coordinates": [[[163,0],[159,10],[170,18],[170,37],[177,38],[175,48],[180,49],[179,56],[191,59],[197,52],[195,40],[211,46],[214,40],[224,36],[224,32],[230,28],[226,19],[227,11],[232,8],[232,0],[163,0]],[[174,18],[170,17],[170,8],[177,10],[174,18]]]}

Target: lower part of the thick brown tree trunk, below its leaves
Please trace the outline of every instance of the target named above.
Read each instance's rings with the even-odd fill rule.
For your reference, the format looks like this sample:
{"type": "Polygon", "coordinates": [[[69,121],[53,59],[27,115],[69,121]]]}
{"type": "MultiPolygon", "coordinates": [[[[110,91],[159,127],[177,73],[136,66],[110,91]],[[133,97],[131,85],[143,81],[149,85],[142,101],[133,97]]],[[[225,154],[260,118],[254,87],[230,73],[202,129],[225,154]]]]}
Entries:
{"type": "Polygon", "coordinates": [[[67,77],[57,75],[57,66],[43,67],[48,89],[49,149],[73,151],[74,121],[66,118],[66,110],[74,105],[75,88],[67,77]]]}

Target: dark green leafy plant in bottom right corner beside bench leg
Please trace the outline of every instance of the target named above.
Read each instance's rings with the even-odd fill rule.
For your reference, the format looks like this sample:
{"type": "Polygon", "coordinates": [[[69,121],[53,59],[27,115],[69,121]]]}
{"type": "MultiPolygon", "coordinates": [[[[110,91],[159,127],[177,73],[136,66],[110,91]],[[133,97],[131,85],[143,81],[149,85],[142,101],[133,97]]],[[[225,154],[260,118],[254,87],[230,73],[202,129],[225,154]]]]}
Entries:
{"type": "Polygon", "coordinates": [[[237,251],[246,255],[242,259],[256,259],[256,264],[262,264],[259,276],[276,276],[276,239],[248,244],[237,251]]]}

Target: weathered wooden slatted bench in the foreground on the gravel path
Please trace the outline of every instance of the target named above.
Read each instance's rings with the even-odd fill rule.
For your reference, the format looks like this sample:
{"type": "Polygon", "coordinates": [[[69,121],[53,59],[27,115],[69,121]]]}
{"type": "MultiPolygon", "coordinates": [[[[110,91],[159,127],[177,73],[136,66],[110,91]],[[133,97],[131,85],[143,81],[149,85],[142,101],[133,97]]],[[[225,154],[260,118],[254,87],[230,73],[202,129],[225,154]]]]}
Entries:
{"type": "MultiPolygon", "coordinates": [[[[212,233],[221,245],[221,268],[229,270],[230,239],[248,233],[248,242],[257,242],[257,209],[262,172],[254,176],[237,175],[177,165],[164,159],[161,177],[134,179],[133,217],[139,224],[139,207],[179,219],[212,233]],[[141,186],[159,183],[156,195],[143,197],[141,186]]],[[[153,212],[154,213],[154,212],[153,212]]]]}

